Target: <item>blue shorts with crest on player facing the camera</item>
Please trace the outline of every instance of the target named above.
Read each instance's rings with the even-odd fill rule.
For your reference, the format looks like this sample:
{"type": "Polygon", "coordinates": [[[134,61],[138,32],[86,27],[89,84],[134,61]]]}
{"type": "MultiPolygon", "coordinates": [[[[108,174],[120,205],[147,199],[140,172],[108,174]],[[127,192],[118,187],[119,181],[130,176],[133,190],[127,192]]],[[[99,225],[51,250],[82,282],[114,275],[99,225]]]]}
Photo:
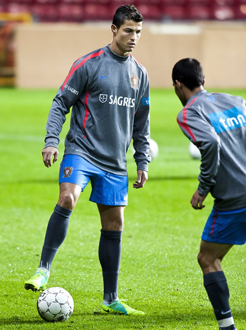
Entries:
{"type": "Polygon", "coordinates": [[[78,155],[65,155],[60,163],[59,183],[78,184],[84,191],[91,181],[89,200],[104,205],[127,205],[128,176],[112,174],[95,167],[78,155]]]}

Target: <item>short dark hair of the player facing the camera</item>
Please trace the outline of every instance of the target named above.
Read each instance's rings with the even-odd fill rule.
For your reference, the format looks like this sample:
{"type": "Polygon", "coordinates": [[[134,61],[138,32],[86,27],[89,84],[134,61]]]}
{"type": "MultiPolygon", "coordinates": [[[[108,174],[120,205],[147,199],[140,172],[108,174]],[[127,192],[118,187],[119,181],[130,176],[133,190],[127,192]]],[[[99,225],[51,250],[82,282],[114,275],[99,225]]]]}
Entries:
{"type": "Polygon", "coordinates": [[[134,5],[124,5],[120,6],[113,17],[113,22],[117,29],[120,28],[122,24],[125,23],[125,20],[134,20],[135,22],[142,22],[144,17],[140,11],[134,5]]]}

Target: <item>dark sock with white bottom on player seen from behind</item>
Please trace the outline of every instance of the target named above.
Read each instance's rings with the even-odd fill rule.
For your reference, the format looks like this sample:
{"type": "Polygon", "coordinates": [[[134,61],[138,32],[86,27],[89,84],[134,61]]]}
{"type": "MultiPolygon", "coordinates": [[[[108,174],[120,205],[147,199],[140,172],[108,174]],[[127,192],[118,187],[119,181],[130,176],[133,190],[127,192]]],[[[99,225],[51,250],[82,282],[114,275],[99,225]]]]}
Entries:
{"type": "Polygon", "coordinates": [[[203,281],[220,329],[231,329],[231,326],[234,329],[226,276],[223,272],[212,272],[203,275],[203,281]]]}

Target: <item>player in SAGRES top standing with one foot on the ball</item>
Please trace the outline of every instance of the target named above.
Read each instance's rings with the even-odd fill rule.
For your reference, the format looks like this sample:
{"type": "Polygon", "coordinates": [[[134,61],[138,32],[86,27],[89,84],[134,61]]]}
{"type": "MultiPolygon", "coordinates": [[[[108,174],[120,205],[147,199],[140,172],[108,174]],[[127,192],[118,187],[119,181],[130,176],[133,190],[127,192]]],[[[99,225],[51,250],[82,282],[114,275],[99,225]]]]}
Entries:
{"type": "MultiPolygon", "coordinates": [[[[90,201],[101,220],[99,261],[103,271],[102,310],[116,314],[145,314],[118,299],[118,274],[124,210],[128,203],[126,152],[133,138],[137,180],[148,179],[150,95],[146,69],[131,55],[142,30],[143,17],[133,5],[120,6],[113,17],[112,43],[80,57],[72,65],[50,109],[43,161],[58,158],[59,133],[72,107],[59,172],[59,198],[48,223],[36,273],[25,288],[43,291],[57,249],[64,241],[69,218],[89,180],[90,201]],[[54,158],[53,158],[54,157],[54,158]]],[[[86,220],[86,219],[85,219],[86,220]]]]}

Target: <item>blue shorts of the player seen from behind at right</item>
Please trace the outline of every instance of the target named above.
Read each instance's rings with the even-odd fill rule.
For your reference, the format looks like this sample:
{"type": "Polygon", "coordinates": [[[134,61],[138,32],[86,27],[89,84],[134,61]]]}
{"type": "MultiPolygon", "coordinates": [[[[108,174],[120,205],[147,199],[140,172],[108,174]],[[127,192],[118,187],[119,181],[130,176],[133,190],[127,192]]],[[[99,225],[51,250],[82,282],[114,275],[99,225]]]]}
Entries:
{"type": "Polygon", "coordinates": [[[219,212],[213,208],[201,238],[213,243],[244,244],[246,241],[246,208],[226,212],[219,212]]]}

